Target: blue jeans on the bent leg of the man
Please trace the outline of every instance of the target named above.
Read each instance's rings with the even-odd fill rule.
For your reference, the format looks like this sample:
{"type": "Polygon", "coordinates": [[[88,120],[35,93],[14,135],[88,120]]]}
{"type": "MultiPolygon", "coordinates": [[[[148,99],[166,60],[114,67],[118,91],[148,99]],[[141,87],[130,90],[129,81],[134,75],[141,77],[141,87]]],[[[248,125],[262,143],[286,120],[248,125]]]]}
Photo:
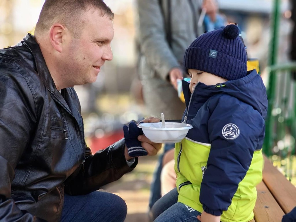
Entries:
{"type": "Polygon", "coordinates": [[[123,222],[126,202],[115,194],[95,191],[87,195],[65,194],[61,222],[123,222]]]}

